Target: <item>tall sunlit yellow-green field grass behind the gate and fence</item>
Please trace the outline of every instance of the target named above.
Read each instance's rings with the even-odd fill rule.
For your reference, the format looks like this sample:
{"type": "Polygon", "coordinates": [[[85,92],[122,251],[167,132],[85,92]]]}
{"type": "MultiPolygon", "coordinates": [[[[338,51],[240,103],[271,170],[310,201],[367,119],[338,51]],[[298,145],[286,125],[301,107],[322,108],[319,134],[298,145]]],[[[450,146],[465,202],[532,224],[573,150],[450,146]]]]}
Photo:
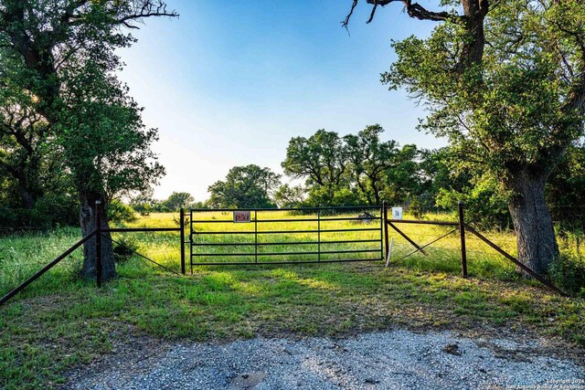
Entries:
{"type": "MultiPolygon", "coordinates": [[[[358,228],[378,228],[379,221],[374,220],[369,224],[360,221],[327,221],[330,217],[353,217],[356,214],[345,214],[337,216],[322,216],[321,229],[358,229],[358,228]]],[[[290,212],[284,211],[263,211],[258,212],[258,230],[282,231],[282,230],[316,230],[317,222],[305,221],[300,222],[296,219],[313,218],[316,215],[295,216],[290,212]],[[286,219],[291,222],[265,222],[269,219],[286,219]]],[[[405,219],[412,218],[409,215],[405,219]]],[[[187,213],[187,218],[189,215],[187,213]]],[[[250,223],[235,224],[232,222],[230,213],[222,212],[205,212],[196,213],[192,216],[192,227],[194,229],[193,242],[196,244],[218,244],[232,243],[232,246],[194,246],[194,255],[203,253],[209,254],[230,254],[230,253],[248,253],[248,256],[194,256],[195,262],[208,262],[221,264],[223,262],[254,262],[254,246],[239,246],[237,244],[253,244],[253,234],[242,235],[224,235],[224,234],[203,234],[211,231],[234,231],[234,232],[253,232],[254,221],[250,223]],[[199,223],[200,220],[225,221],[216,223],[199,223]]],[[[447,215],[428,215],[427,219],[449,219],[452,216],[447,215]]],[[[128,224],[128,227],[177,227],[178,213],[154,213],[150,216],[141,216],[135,222],[128,224]]],[[[433,225],[411,225],[397,224],[400,230],[412,238],[420,246],[426,245],[432,240],[453,230],[452,227],[441,227],[433,225]]],[[[187,220],[186,239],[188,240],[190,225],[187,220]]],[[[498,246],[505,251],[516,256],[516,238],[509,231],[491,231],[484,233],[493,240],[498,246]]],[[[388,236],[394,240],[393,250],[390,262],[393,267],[405,267],[416,271],[439,271],[452,275],[461,273],[461,249],[459,232],[455,231],[451,235],[442,238],[430,247],[425,248],[425,254],[415,252],[407,258],[405,255],[415,250],[410,243],[388,227],[388,236]],[[403,259],[400,259],[403,258],[403,259]],[[395,262],[398,263],[395,264],[395,262]]],[[[13,289],[23,280],[33,275],[38,269],[43,267],[52,258],[57,257],[60,253],[69,248],[80,238],[79,229],[75,227],[58,228],[49,232],[15,234],[7,237],[0,237],[0,294],[13,289]]],[[[178,233],[160,233],[160,232],[140,232],[140,233],[114,233],[114,240],[131,239],[138,246],[140,253],[154,261],[163,264],[165,267],[180,270],[180,242],[178,233]]],[[[317,233],[287,233],[287,234],[259,234],[259,243],[282,242],[282,245],[266,245],[258,248],[258,262],[265,263],[271,261],[307,261],[317,260],[318,256],[310,255],[285,255],[286,252],[316,252],[317,244],[294,245],[295,242],[317,241],[317,233]],[[288,244],[290,243],[290,244],[288,244]],[[266,252],[283,253],[282,255],[265,256],[266,252]]],[[[364,253],[343,253],[343,254],[322,254],[322,260],[332,259],[376,259],[380,258],[379,242],[367,243],[341,243],[326,244],[326,241],[344,241],[372,239],[379,240],[378,231],[351,231],[351,232],[331,232],[321,233],[321,251],[335,250],[376,250],[376,252],[364,253]]],[[[567,247],[569,258],[575,256],[574,243],[568,242],[568,238],[563,240],[564,247],[567,247]]],[[[515,266],[497,254],[493,249],[488,248],[484,242],[471,234],[466,235],[468,273],[471,277],[493,278],[500,280],[514,280],[519,276],[516,273],[515,266]]],[[[564,248],[563,247],[563,248],[564,248]]],[[[189,244],[186,244],[187,267],[189,244]]],[[[53,291],[63,289],[66,286],[74,286],[79,283],[76,278],[81,267],[82,253],[81,249],[75,251],[69,258],[63,260],[54,269],[51,269],[47,275],[37,280],[34,290],[53,291]]],[[[380,262],[381,263],[381,262],[380,262]]],[[[195,270],[201,269],[195,267],[195,270]]],[[[144,275],[144,272],[164,272],[162,269],[155,269],[152,264],[145,263],[144,260],[134,258],[127,264],[119,265],[118,271],[122,274],[144,275]]]]}

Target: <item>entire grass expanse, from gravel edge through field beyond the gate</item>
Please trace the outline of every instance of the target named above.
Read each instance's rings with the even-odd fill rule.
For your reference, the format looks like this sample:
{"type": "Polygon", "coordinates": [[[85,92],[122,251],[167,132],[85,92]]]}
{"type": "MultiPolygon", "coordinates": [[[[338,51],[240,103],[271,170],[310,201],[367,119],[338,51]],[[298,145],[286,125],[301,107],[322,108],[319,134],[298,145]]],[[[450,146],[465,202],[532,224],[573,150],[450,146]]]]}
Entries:
{"type": "MultiPolygon", "coordinates": [[[[220,213],[213,216],[230,217],[220,213]]],[[[293,216],[281,212],[279,217],[293,216]]],[[[174,218],[176,215],[154,214],[141,217],[132,226],[175,227],[174,218]]],[[[333,226],[327,228],[350,223],[330,222],[333,226]]],[[[197,229],[250,228],[248,224],[209,225],[213,227],[197,229]]],[[[269,225],[262,228],[280,228],[269,225]]],[[[303,223],[287,227],[314,228],[303,223]]],[[[402,227],[420,245],[449,231],[449,227],[402,227]]],[[[398,234],[390,233],[395,238],[392,258],[412,250],[398,234]]],[[[363,232],[360,237],[368,234],[377,232],[363,232]]],[[[334,235],[326,239],[347,239],[356,232],[334,235]]],[[[515,241],[509,233],[486,235],[514,254],[515,241]]],[[[312,239],[310,234],[286,236],[262,239],[312,239]]],[[[176,233],[113,237],[133,241],[144,255],[170,269],[180,269],[176,233]]],[[[221,239],[208,238],[210,242],[221,239]]],[[[0,294],[16,287],[77,239],[79,230],[75,228],[1,237],[0,294]]],[[[207,341],[256,335],[336,336],[399,327],[521,331],[547,336],[569,348],[585,346],[585,300],[559,297],[534,281],[518,277],[511,263],[479,240],[468,237],[467,246],[469,279],[460,277],[459,237],[453,234],[429,248],[427,257],[416,254],[388,269],[381,261],[206,266],[195,267],[193,275],[177,277],[134,257],[119,264],[119,278],[101,290],[90,281],[76,278],[81,261],[77,251],[0,308],[0,387],[57,386],[68,368],[87,364],[111,351],[116,343],[142,334],[166,340],[207,341]]],[[[303,250],[311,250],[308,247],[303,250]]],[[[225,261],[220,257],[209,259],[225,261]]]]}

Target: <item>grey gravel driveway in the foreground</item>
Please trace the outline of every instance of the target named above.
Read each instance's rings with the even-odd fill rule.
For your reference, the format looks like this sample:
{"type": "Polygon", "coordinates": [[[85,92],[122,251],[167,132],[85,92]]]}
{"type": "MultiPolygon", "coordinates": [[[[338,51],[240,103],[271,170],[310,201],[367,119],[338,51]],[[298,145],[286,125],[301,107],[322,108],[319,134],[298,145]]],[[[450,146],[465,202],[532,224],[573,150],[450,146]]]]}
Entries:
{"type": "Polygon", "coordinates": [[[69,374],[70,389],[585,389],[585,368],[538,341],[452,332],[179,343],[118,353],[69,374]]]}

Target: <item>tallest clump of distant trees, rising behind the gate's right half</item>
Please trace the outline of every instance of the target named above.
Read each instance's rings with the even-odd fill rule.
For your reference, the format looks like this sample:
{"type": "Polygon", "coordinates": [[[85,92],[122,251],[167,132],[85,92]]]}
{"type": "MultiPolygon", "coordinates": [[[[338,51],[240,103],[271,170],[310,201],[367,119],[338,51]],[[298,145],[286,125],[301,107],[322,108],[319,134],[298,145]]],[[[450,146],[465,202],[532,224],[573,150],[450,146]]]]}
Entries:
{"type": "Polygon", "coordinates": [[[282,167],[285,174],[305,180],[307,197],[298,187],[283,187],[282,203],[301,199],[308,206],[379,205],[383,200],[399,204],[431,190],[436,166],[425,159],[432,153],[413,144],[399,148],[396,141],[383,141],[383,132],[375,124],[343,138],[324,130],[309,138],[294,137],[282,167]]]}

